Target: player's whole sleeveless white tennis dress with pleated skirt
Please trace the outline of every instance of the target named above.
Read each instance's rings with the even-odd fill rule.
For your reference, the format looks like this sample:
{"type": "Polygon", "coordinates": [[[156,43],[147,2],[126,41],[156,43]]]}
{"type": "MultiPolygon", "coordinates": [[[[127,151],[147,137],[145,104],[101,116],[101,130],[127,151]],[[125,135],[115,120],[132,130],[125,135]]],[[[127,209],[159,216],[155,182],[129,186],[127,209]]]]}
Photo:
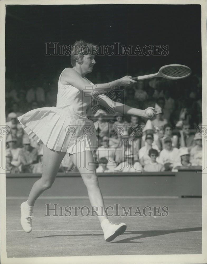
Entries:
{"type": "MultiPolygon", "coordinates": [[[[85,114],[90,98],[84,98],[82,92],[70,84],[63,85],[62,73],[57,106],[31,110],[18,120],[30,138],[50,149],[71,154],[92,150],[96,147],[96,129],[85,114]]],[[[93,85],[86,80],[89,86],[93,85]]]]}

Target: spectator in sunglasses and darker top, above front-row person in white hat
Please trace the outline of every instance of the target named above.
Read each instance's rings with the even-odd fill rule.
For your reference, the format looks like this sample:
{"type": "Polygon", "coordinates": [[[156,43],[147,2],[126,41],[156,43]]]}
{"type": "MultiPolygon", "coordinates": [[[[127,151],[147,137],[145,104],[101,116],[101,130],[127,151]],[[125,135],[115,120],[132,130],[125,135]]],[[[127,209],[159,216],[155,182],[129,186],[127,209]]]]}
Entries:
{"type": "Polygon", "coordinates": [[[180,147],[187,147],[190,151],[195,146],[194,136],[190,135],[190,125],[183,122],[182,130],[180,130],[180,147]]]}

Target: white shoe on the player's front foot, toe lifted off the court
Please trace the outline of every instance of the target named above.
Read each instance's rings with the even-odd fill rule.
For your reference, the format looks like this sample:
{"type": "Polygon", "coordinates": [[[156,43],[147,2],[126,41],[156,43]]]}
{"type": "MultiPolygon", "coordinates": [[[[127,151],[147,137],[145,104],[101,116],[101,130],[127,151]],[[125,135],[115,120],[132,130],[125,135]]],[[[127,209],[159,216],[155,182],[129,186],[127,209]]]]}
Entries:
{"type": "Polygon", "coordinates": [[[121,235],[126,230],[126,224],[121,223],[119,225],[117,224],[108,224],[104,229],[104,239],[106,242],[110,242],[114,240],[118,235],[121,235]]]}

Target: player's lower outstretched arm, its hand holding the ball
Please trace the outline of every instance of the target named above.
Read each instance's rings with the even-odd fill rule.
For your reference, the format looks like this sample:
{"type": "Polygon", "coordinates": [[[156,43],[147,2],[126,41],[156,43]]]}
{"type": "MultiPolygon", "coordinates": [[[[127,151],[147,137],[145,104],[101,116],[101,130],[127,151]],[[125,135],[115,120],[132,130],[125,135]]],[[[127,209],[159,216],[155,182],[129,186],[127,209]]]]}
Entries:
{"type": "MultiPolygon", "coordinates": [[[[146,117],[146,118],[149,118],[149,115],[147,114],[148,109],[153,110],[154,112],[153,116],[156,116],[157,114],[160,114],[162,112],[161,110],[155,111],[154,107],[148,107],[145,110],[141,110],[141,109],[137,109],[137,108],[134,108],[128,105],[124,105],[123,103],[114,102],[105,94],[98,95],[98,102],[100,103],[100,105],[108,109],[109,108],[114,109],[116,112],[119,112],[121,114],[123,114],[123,110],[124,110],[124,114],[136,115],[136,116],[141,116],[141,117],[146,117]]],[[[150,116],[150,118],[153,116],[150,116]]]]}

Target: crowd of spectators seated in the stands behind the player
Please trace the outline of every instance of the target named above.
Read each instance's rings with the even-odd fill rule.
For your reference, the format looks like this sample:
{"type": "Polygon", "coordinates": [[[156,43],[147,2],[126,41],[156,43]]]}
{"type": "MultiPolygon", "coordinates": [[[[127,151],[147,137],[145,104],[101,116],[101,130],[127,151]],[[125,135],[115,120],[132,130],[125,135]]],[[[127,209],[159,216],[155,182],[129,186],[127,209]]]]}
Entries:
{"type": "MultiPolygon", "coordinates": [[[[148,72],[149,73],[149,72],[148,72]]],[[[137,73],[135,76],[143,75],[137,73]]],[[[94,83],[109,82],[114,73],[94,83]]],[[[6,79],[6,168],[12,173],[42,173],[43,145],[24,132],[17,117],[39,107],[56,106],[57,77],[50,82],[38,76],[36,81],[6,79]],[[18,83],[18,84],[17,84],[18,83]]],[[[137,116],[108,115],[96,111],[94,121],[97,149],[93,152],[97,172],[176,171],[177,167],[202,166],[202,136],[196,127],[202,124],[202,87],[197,75],[179,81],[154,78],[126,87],[125,104],[139,109],[162,109],[152,120],[137,116]]],[[[65,155],[59,172],[73,164],[65,155]]]]}

